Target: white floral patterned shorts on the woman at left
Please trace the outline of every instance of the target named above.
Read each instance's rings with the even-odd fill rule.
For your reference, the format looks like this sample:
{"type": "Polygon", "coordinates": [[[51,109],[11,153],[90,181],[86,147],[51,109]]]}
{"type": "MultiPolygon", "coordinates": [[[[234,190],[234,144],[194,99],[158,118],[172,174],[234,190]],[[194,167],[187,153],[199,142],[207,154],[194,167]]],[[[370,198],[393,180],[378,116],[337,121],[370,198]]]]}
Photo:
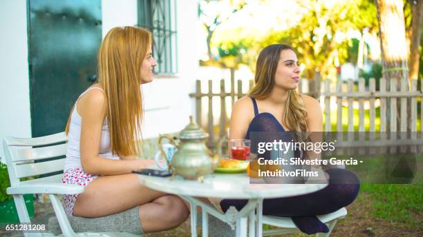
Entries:
{"type": "MultiPolygon", "coordinates": [[[[66,170],[62,177],[62,183],[68,183],[71,185],[86,186],[88,183],[97,178],[97,175],[86,174],[82,168],[76,167],[66,170]]],[[[75,205],[76,199],[79,194],[64,195],[63,205],[66,214],[73,215],[73,206],[75,205]]]]}

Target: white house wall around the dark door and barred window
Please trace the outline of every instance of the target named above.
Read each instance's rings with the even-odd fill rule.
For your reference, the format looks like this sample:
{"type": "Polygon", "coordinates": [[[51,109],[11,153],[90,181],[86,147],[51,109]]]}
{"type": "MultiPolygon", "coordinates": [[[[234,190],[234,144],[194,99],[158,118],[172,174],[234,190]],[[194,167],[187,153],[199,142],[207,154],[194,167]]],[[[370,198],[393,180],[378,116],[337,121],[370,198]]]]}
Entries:
{"type": "MultiPolygon", "coordinates": [[[[177,1],[178,74],[142,85],[144,94],[144,138],[178,132],[193,114],[189,92],[197,76],[196,1],[177,1]]],[[[30,94],[26,0],[2,0],[0,24],[0,139],[4,136],[30,137],[30,94]]],[[[102,34],[115,26],[136,25],[136,0],[102,0],[102,34]]],[[[3,157],[3,149],[0,149],[3,157]]]]}

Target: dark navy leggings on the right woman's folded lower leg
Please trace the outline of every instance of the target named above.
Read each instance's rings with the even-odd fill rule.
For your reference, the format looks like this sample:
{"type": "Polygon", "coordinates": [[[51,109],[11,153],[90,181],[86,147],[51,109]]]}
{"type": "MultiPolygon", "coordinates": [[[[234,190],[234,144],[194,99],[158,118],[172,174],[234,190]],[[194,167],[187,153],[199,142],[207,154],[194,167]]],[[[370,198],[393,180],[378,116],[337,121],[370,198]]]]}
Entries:
{"type": "MultiPolygon", "coordinates": [[[[346,169],[328,169],[329,183],[325,188],[301,196],[269,198],[263,200],[263,215],[316,216],[335,212],[353,203],[359,193],[359,180],[346,169]]],[[[241,210],[247,200],[224,199],[220,202],[223,212],[230,206],[241,210]]]]}

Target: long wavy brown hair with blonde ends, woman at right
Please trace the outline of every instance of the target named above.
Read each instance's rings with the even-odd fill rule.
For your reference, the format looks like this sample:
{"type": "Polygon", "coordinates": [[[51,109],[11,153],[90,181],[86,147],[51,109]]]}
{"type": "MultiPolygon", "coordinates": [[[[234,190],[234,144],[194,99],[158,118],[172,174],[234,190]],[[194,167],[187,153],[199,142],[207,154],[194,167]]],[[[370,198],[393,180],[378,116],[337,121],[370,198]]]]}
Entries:
{"type": "MultiPolygon", "coordinates": [[[[290,45],[285,44],[268,45],[261,50],[256,63],[254,87],[249,93],[252,98],[266,99],[270,96],[282,50],[294,51],[290,45]]],[[[308,130],[307,111],[296,90],[288,91],[288,99],[285,102],[285,111],[283,112],[283,123],[290,131],[307,132],[308,130]]]]}

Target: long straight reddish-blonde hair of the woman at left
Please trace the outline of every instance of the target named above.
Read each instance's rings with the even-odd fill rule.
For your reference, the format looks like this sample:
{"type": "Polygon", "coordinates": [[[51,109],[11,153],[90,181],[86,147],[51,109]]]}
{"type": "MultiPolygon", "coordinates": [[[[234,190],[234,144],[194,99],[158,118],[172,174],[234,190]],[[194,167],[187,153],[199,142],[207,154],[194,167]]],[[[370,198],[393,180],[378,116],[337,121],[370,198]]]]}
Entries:
{"type": "Polygon", "coordinates": [[[107,99],[111,150],[119,156],[139,152],[143,117],[140,72],[149,47],[151,32],[126,26],[111,29],[98,52],[98,78],[107,99]]]}

